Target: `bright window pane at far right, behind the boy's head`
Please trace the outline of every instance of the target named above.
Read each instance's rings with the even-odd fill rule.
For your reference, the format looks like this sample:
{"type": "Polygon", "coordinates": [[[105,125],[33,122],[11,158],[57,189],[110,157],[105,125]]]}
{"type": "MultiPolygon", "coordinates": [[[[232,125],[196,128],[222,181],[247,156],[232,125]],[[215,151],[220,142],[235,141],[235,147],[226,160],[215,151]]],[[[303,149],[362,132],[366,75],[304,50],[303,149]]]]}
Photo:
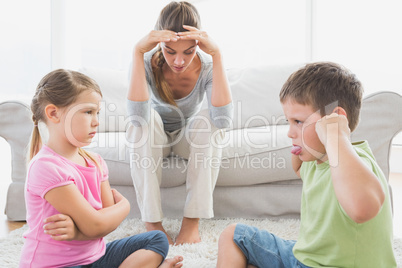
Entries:
{"type": "Polygon", "coordinates": [[[315,1],[313,60],[339,62],[362,81],[365,94],[402,94],[402,2],[315,1]]]}

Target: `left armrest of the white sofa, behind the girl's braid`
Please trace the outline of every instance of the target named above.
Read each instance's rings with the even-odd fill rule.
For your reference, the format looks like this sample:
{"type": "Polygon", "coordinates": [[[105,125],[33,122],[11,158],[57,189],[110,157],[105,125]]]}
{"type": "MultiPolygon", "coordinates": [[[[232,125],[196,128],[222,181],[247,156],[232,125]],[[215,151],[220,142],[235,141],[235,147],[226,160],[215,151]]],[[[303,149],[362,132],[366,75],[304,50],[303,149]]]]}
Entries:
{"type": "Polygon", "coordinates": [[[9,220],[25,220],[24,184],[27,147],[33,128],[28,105],[18,101],[0,103],[0,136],[11,147],[11,180],[5,212],[9,220]]]}

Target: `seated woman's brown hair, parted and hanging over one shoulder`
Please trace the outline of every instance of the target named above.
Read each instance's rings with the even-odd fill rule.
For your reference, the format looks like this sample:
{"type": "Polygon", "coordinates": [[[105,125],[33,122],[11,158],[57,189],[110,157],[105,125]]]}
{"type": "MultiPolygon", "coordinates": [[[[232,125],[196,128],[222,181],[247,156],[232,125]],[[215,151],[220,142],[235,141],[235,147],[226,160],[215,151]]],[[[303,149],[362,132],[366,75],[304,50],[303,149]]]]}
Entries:
{"type": "MultiPolygon", "coordinates": [[[[165,6],[155,25],[155,30],[170,30],[173,32],[188,31],[183,28],[183,25],[193,26],[197,29],[201,28],[201,18],[197,9],[190,3],[170,2],[165,6]]],[[[162,67],[166,63],[165,57],[162,54],[162,49],[159,47],[156,54],[156,67],[153,68],[155,84],[159,96],[168,104],[177,106],[169,84],[163,76],[162,67]]]]}

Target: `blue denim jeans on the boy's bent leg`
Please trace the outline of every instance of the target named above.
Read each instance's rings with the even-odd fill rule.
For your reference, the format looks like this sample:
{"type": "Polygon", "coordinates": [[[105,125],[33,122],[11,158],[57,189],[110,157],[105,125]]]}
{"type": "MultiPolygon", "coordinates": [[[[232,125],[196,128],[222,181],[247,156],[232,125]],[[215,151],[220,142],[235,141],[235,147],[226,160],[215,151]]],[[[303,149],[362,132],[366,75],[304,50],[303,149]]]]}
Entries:
{"type": "Polygon", "coordinates": [[[293,255],[294,240],[284,240],[244,224],[236,225],[233,240],[243,251],[248,264],[259,268],[308,268],[293,255]]]}

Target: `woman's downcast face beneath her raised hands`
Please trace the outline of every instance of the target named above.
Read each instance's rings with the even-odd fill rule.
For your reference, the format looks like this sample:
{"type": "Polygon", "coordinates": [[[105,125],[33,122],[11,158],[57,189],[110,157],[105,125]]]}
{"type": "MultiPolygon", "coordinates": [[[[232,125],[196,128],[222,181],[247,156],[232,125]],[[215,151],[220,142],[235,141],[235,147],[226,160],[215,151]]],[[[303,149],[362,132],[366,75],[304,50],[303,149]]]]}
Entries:
{"type": "Polygon", "coordinates": [[[170,69],[177,74],[183,73],[190,66],[196,55],[195,40],[179,40],[161,43],[162,53],[170,69]]]}

